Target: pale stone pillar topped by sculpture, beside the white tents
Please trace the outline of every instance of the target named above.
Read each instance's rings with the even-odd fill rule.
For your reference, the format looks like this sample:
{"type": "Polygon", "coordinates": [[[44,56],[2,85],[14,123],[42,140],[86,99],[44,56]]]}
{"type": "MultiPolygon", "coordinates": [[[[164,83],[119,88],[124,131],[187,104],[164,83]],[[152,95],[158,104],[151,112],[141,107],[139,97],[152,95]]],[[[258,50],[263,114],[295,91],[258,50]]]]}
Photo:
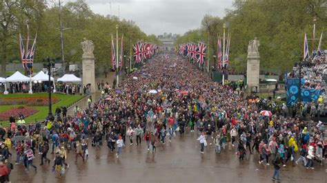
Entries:
{"type": "Polygon", "coordinates": [[[95,45],[92,41],[84,39],[81,42],[83,55],[83,86],[87,86],[88,92],[95,92],[95,55],[93,50],[95,50],[95,45]]]}

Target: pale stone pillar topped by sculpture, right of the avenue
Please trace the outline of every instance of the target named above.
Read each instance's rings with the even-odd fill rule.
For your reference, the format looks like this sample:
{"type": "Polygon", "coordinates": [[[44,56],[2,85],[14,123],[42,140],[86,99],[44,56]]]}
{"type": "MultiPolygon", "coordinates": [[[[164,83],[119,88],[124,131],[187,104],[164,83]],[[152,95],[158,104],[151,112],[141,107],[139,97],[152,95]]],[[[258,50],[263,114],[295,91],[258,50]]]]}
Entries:
{"type": "Polygon", "coordinates": [[[259,45],[260,43],[257,38],[249,41],[248,43],[248,65],[246,69],[246,83],[248,85],[248,92],[259,92],[259,45]]]}

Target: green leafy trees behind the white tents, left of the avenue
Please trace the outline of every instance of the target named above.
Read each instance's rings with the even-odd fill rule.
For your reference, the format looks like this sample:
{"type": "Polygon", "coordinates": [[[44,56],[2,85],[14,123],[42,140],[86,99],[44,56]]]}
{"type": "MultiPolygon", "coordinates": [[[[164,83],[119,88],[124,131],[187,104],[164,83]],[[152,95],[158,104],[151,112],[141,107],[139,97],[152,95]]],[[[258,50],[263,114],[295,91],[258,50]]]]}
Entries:
{"type": "Polygon", "coordinates": [[[123,54],[126,55],[126,59],[130,56],[130,45],[137,41],[160,45],[154,34],[146,35],[134,21],[95,14],[83,0],[68,2],[61,8],[58,4],[49,4],[46,0],[2,0],[0,3],[0,76],[6,76],[6,63],[20,62],[18,35],[21,32],[21,35],[26,37],[27,24],[30,28],[30,37],[34,38],[37,33],[34,63],[45,62],[46,56],[61,63],[60,9],[66,63],[81,62],[83,51],[80,43],[85,38],[95,44],[95,64],[106,65],[109,69],[111,67],[110,40],[111,34],[115,37],[116,25],[119,28],[119,38],[123,34],[123,54]]]}

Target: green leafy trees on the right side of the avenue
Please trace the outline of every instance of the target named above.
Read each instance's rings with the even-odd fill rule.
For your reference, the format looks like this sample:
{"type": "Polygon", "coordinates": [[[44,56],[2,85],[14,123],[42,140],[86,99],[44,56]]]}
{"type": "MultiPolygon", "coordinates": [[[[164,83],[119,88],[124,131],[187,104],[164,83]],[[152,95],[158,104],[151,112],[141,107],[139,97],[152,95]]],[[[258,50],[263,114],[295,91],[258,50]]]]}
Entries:
{"type": "MultiPolygon", "coordinates": [[[[223,24],[226,23],[226,34],[231,35],[230,69],[246,72],[248,41],[257,37],[260,41],[261,71],[281,74],[292,69],[294,63],[303,57],[304,33],[313,37],[314,19],[315,39],[319,39],[321,32],[327,30],[326,1],[236,0],[232,10],[226,10],[224,18],[205,15],[201,28],[186,32],[177,39],[175,45],[197,41],[207,43],[207,54],[210,56],[210,65],[213,65],[218,35],[223,36],[223,24]]],[[[318,42],[309,40],[310,54],[313,47],[317,49],[318,42]]],[[[326,39],[323,39],[321,48],[327,49],[326,46],[326,39]]]]}

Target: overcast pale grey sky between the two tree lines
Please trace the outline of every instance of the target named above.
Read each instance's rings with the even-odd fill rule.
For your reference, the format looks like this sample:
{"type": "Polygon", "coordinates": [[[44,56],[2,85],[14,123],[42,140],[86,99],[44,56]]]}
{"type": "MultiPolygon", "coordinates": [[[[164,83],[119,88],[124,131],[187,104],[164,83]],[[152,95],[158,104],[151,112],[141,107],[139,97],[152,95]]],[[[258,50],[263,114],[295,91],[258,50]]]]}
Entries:
{"type": "MultiPolygon", "coordinates": [[[[63,0],[63,3],[76,0],[63,0]]],[[[184,34],[199,28],[205,14],[224,17],[234,0],[86,0],[95,13],[120,14],[132,19],[146,34],[184,34]],[[111,11],[110,11],[111,2],[111,11]],[[119,10],[119,11],[118,11],[119,10]]]]}

